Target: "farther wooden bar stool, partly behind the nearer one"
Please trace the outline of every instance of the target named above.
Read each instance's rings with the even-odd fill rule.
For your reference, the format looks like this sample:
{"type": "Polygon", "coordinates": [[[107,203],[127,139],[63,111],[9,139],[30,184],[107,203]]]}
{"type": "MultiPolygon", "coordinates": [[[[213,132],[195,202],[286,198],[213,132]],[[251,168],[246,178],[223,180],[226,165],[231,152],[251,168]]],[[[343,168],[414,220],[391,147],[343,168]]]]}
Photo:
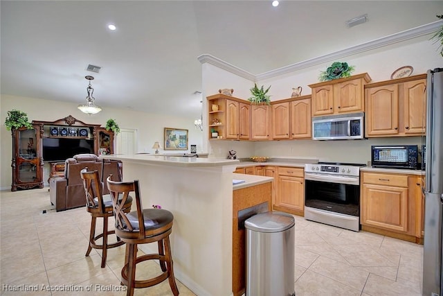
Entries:
{"type": "MultiPolygon", "coordinates": [[[[117,242],[108,244],[108,236],[115,234],[114,230],[108,230],[108,218],[114,216],[114,208],[112,207],[111,195],[102,195],[103,183],[100,182],[98,171],[88,171],[88,168],[83,168],[80,171],[83,180],[84,193],[86,194],[86,210],[91,214],[91,230],[89,232],[89,246],[84,256],[89,256],[92,249],[102,250],[102,268],[106,265],[107,249],[118,247],[125,242],[121,241],[117,236],[117,242]],[[96,221],[97,218],[103,218],[103,230],[101,234],[96,236],[96,221]],[[102,238],[102,244],[97,243],[98,239],[102,238]]],[[[132,198],[129,196],[122,205],[122,211],[129,213],[132,206],[132,198]]]]}

